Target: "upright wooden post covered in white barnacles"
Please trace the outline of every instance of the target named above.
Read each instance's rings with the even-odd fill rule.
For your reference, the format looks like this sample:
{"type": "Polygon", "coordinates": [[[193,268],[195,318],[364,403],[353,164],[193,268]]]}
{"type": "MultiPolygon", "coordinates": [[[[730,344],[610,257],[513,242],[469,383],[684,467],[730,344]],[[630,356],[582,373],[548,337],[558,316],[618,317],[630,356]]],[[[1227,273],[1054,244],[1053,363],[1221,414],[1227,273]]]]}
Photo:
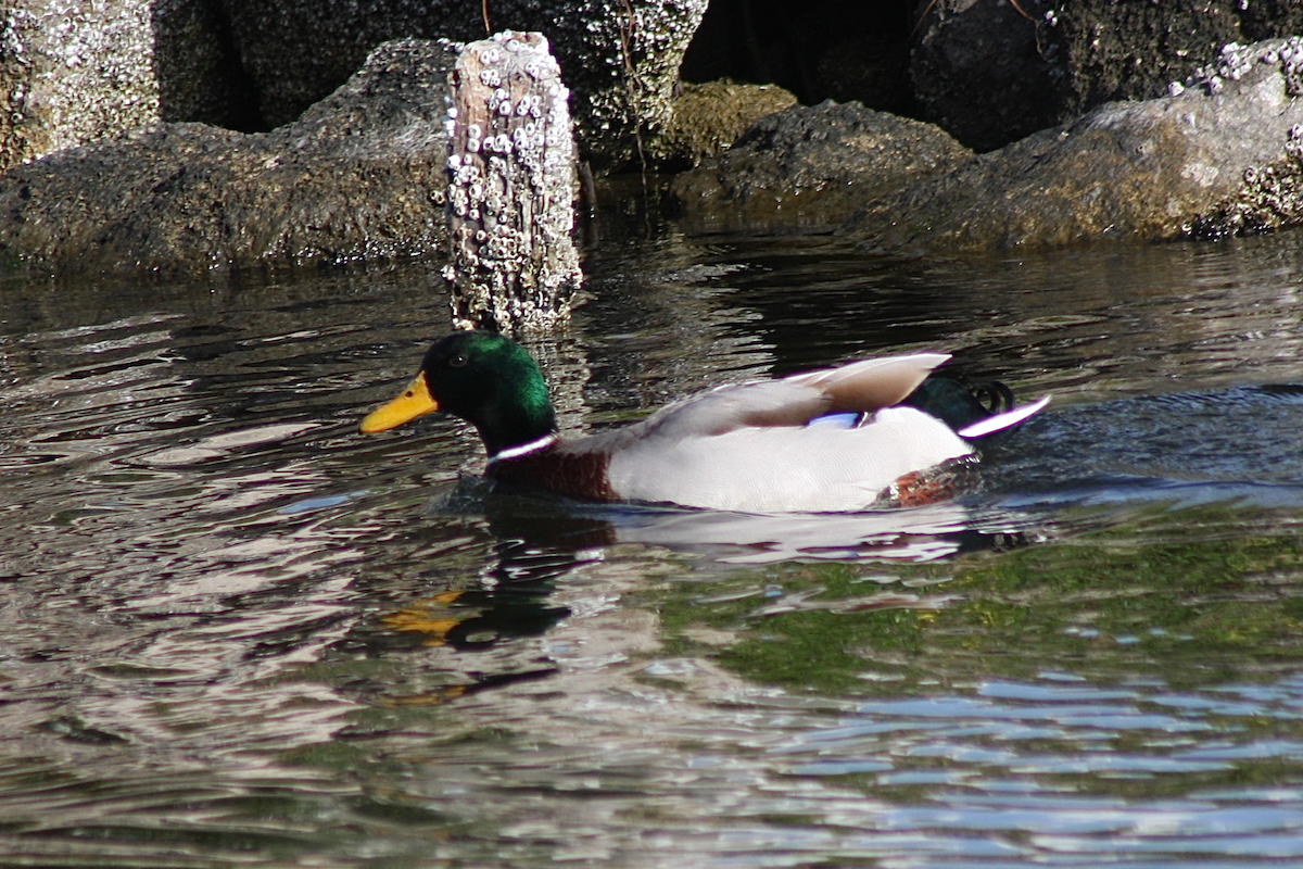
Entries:
{"type": "Polygon", "coordinates": [[[504,31],[469,43],[452,72],[448,229],[456,328],[542,331],[582,281],[571,240],[569,90],[547,39],[504,31]]]}

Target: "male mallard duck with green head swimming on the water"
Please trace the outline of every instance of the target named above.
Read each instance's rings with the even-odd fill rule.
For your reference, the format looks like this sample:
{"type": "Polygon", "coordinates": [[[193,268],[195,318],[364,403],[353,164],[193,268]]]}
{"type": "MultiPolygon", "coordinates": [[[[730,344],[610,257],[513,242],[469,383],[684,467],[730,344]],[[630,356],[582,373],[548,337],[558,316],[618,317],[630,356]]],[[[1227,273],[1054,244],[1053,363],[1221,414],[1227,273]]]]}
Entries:
{"type": "Polygon", "coordinates": [[[640,422],[567,438],[529,352],[499,332],[460,331],[430,347],[410,384],[369,413],[361,431],[450,413],[478,431],[495,485],[577,500],[855,512],[929,469],[972,460],[975,442],[1049,401],[1014,408],[1011,396],[995,396],[988,409],[954,382],[929,382],[949,358],[885,356],[719,386],[640,422]],[[933,386],[920,388],[925,382],[933,386]]]}

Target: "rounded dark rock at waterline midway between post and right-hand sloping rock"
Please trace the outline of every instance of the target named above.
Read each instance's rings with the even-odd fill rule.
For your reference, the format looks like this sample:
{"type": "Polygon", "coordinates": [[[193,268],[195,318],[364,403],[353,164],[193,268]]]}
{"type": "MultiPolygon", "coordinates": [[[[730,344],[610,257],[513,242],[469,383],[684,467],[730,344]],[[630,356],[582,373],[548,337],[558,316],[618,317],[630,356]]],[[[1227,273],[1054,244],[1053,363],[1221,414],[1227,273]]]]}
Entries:
{"type": "Polygon", "coordinates": [[[930,124],[826,102],[762,117],[670,198],[693,231],[827,228],[969,156],[930,124]]]}

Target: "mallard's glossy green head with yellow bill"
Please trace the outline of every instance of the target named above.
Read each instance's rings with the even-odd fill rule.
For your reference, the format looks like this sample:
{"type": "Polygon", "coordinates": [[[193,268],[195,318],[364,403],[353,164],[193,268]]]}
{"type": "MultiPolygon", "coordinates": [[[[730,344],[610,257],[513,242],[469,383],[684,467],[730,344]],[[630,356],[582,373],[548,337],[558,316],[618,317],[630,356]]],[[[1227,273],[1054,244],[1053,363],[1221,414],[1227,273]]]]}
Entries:
{"type": "Polygon", "coordinates": [[[490,456],[556,430],[538,365],[496,332],[453,332],[437,341],[412,384],[362,420],[362,431],[386,431],[433,410],[470,422],[490,456]]]}

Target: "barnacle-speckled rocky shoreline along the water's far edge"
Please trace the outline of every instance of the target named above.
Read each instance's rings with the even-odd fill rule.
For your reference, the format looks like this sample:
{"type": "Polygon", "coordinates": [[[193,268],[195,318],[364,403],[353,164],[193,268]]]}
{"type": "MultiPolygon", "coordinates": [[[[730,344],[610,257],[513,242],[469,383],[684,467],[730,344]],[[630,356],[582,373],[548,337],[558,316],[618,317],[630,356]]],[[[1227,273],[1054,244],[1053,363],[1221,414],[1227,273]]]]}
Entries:
{"type": "MultiPolygon", "coordinates": [[[[190,99],[198,120],[169,120],[168,111],[185,103],[173,93],[180,83],[160,81],[152,96],[132,94],[142,78],[122,73],[119,90],[132,94],[134,108],[94,113],[87,121],[94,129],[79,130],[69,120],[72,95],[38,99],[40,87],[53,87],[48,76],[35,76],[42,63],[52,64],[50,21],[40,18],[52,4],[20,4],[0,30],[0,85],[9,107],[8,126],[0,129],[0,159],[8,162],[0,176],[5,270],[185,272],[447,255],[444,124],[456,44],[412,36],[382,42],[352,77],[301,108],[294,99],[301,103],[313,90],[304,85],[310,78],[304,70],[313,66],[301,60],[304,46],[313,27],[339,36],[341,22],[327,26],[318,12],[310,27],[284,42],[284,70],[293,74],[271,87],[266,82],[275,76],[258,72],[263,68],[251,59],[272,56],[285,27],[268,18],[272,7],[255,16],[232,3],[223,8],[228,25],[244,22],[237,27],[244,74],[266,79],[251,87],[261,96],[245,115],[284,122],[267,130],[202,122],[205,113],[225,122],[240,116],[231,108],[238,77],[229,74],[220,87],[210,81],[208,96],[190,99]],[[287,96],[292,81],[301,85],[300,98],[287,96]],[[220,102],[214,94],[227,95],[225,109],[211,108],[220,102]],[[194,108],[202,106],[210,108],[194,108]],[[43,116],[43,108],[51,111],[43,116]],[[124,129],[108,134],[113,119],[124,129]]],[[[194,12],[184,3],[145,5],[159,31],[180,33],[177,22],[189,21],[182,13],[194,12]]],[[[1134,5],[1111,4],[1111,14],[1140,14],[1134,5]]],[[[109,8],[119,13],[117,30],[141,20],[133,8],[136,18],[109,8]]],[[[545,34],[555,34],[547,35],[573,93],[576,141],[589,165],[598,173],[680,171],[670,201],[689,232],[831,231],[874,250],[926,254],[1217,238],[1299,223],[1303,39],[1289,30],[1303,30],[1303,16],[1289,7],[1255,5],[1252,13],[1209,7],[1197,27],[1182,31],[1190,44],[1177,46],[1170,29],[1162,39],[1152,27],[1131,36],[1109,30],[1106,39],[1096,36],[1091,53],[1079,36],[1091,30],[1089,16],[1093,31],[1104,33],[1100,16],[1109,8],[925,4],[909,34],[909,98],[881,82],[861,89],[870,102],[881,93],[895,107],[912,107],[915,117],[856,100],[792,104],[796,98],[775,86],[679,87],[685,53],[691,61],[696,51],[692,31],[708,12],[704,0],[562,3],[549,8],[550,18],[532,14],[545,34]],[[1272,31],[1280,31],[1277,38],[1247,46],[1218,42],[1272,31]],[[955,50],[960,44],[969,51],[955,50]],[[985,46],[986,74],[1014,74],[1018,86],[963,81],[979,51],[973,46],[985,46]],[[1123,74],[1118,64],[1126,51],[1132,66],[1148,57],[1152,68],[1123,74]],[[942,99],[973,87],[981,98],[942,99]]],[[[498,13],[509,18],[511,10],[498,13]]],[[[448,12],[447,35],[468,38],[476,27],[474,38],[482,35],[480,12],[469,18],[464,9],[448,12]]],[[[345,42],[356,47],[403,23],[397,13],[369,20],[345,42]]],[[[78,25],[68,26],[76,33],[78,25]]],[[[433,26],[423,21],[409,29],[433,26]]],[[[137,60],[160,70],[179,39],[156,40],[152,60],[137,60]]],[[[87,53],[78,56],[81,78],[69,76],[65,83],[79,81],[89,90],[94,76],[85,68],[109,48],[93,39],[68,44],[87,53]]],[[[124,51],[122,44],[112,51],[124,51]]],[[[129,50],[146,51],[141,44],[129,50]]],[[[212,44],[195,57],[220,66],[229,48],[212,44]]],[[[891,47],[878,52],[900,56],[891,47]]],[[[99,63],[100,70],[112,66],[103,56],[99,63]]],[[[844,72],[843,79],[851,78],[844,72]]]]}

